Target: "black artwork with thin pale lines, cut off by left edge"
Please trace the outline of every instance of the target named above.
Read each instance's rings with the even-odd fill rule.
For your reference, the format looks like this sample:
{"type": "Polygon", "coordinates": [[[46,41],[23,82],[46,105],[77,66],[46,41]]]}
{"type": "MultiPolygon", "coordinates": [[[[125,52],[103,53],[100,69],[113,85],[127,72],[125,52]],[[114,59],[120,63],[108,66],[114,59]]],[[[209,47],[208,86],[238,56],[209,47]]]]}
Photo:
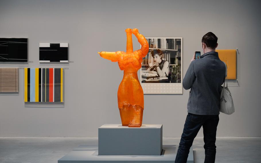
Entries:
{"type": "Polygon", "coordinates": [[[27,62],[27,38],[0,38],[0,62],[27,62]]]}

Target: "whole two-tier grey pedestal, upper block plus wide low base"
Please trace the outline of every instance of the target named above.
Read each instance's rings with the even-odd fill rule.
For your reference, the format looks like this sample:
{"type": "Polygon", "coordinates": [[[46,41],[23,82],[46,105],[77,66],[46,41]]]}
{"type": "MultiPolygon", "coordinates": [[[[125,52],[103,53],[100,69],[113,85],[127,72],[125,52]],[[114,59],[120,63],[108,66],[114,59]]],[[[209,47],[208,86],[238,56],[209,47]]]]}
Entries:
{"type": "MultiPolygon", "coordinates": [[[[129,128],[113,124],[102,125],[98,130],[99,148],[98,145],[80,145],[59,159],[58,163],[175,162],[178,145],[162,145],[162,125],[129,128]]],[[[194,162],[192,149],[187,163],[194,162]]]]}

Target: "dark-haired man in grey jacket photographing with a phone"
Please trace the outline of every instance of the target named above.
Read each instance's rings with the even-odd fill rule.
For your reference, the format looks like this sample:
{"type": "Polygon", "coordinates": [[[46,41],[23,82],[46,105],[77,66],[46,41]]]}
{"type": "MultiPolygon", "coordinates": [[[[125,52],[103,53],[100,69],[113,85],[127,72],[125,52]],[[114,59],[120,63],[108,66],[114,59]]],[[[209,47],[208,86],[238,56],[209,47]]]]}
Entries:
{"type": "Polygon", "coordinates": [[[183,87],[189,92],[188,115],[176,156],[176,163],[187,162],[189,149],[199,129],[203,126],[205,163],[215,162],[216,132],[219,122],[221,85],[225,79],[225,63],[218,53],[217,36],[208,32],[202,37],[204,55],[191,60],[183,79],[183,87]]]}

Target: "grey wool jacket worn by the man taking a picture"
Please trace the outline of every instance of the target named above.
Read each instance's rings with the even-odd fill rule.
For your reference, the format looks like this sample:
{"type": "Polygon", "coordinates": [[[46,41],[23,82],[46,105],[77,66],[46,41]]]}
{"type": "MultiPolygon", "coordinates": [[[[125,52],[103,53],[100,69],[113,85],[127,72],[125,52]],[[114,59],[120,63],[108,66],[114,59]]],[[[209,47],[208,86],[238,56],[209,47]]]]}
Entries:
{"type": "Polygon", "coordinates": [[[188,90],[188,112],[196,115],[218,115],[221,85],[224,83],[226,67],[217,52],[209,52],[190,63],[182,81],[188,90]]]}

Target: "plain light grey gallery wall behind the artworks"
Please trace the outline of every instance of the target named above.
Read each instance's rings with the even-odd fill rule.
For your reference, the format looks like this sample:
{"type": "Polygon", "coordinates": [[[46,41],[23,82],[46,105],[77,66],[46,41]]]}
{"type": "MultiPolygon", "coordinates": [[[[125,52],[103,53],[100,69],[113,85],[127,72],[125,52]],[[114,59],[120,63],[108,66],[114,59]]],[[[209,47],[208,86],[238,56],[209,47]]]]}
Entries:
{"type": "MultiPolygon", "coordinates": [[[[28,38],[29,68],[64,67],[64,105],[25,105],[19,94],[0,94],[0,137],[98,137],[98,127],[119,124],[118,64],[98,51],[126,51],[126,28],[145,37],[183,37],[183,77],[201,38],[217,35],[219,49],[240,52],[240,87],[230,87],[235,113],[220,114],[218,137],[261,136],[260,1],[0,1],[0,38],[28,38]],[[40,65],[40,42],[68,42],[69,65],[40,65]]],[[[133,48],[139,43],[133,35],[133,48]]],[[[17,67],[0,64],[0,67],[17,67]]],[[[25,67],[25,66],[20,66],[25,67]]],[[[144,95],[143,124],[163,124],[164,137],[180,137],[189,90],[144,95]]],[[[198,136],[203,136],[202,130],[198,136]]]]}

